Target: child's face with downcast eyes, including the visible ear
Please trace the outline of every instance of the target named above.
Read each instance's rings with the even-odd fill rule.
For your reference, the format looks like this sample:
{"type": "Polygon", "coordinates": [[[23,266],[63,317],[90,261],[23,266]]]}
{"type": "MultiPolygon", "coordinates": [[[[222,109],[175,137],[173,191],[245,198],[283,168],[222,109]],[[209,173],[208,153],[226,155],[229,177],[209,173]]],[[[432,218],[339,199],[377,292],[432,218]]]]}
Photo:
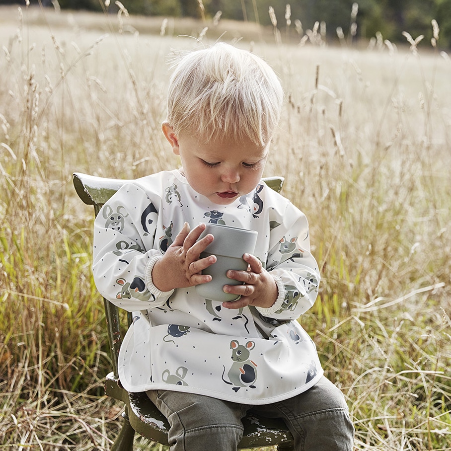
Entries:
{"type": "Polygon", "coordinates": [[[190,186],[213,203],[231,204],[260,181],[269,144],[262,147],[249,140],[230,142],[220,138],[204,143],[194,133],[176,136],[167,123],[162,129],[173,152],[180,155],[190,186]]]}

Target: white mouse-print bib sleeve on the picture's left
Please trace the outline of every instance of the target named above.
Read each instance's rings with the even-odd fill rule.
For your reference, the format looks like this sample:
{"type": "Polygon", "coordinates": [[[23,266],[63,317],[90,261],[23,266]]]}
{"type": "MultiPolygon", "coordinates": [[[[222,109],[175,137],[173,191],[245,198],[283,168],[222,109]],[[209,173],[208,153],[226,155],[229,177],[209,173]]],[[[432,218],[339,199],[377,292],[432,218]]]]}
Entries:
{"type": "Polygon", "coordinates": [[[105,203],[94,222],[96,287],[127,311],[160,307],[174,291],[161,292],[151,280],[153,265],[162,256],[154,246],[159,205],[157,197],[152,200],[139,186],[127,184],[105,203]]]}

